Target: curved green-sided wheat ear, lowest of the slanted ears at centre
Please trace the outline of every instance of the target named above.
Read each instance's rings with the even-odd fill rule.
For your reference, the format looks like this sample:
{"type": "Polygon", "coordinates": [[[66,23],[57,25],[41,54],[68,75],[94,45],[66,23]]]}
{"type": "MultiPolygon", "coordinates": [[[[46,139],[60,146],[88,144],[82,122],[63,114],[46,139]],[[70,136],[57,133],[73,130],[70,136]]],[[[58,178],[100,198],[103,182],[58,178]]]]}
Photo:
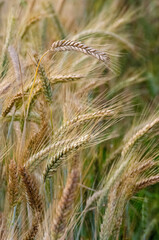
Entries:
{"type": "Polygon", "coordinates": [[[73,141],[71,144],[66,145],[61,151],[57,152],[55,156],[50,159],[50,163],[47,165],[44,171],[44,181],[50,174],[50,172],[55,173],[58,167],[61,165],[62,158],[73,150],[79,149],[81,146],[86,144],[90,140],[89,135],[85,135],[79,138],[77,141],[73,141]]]}

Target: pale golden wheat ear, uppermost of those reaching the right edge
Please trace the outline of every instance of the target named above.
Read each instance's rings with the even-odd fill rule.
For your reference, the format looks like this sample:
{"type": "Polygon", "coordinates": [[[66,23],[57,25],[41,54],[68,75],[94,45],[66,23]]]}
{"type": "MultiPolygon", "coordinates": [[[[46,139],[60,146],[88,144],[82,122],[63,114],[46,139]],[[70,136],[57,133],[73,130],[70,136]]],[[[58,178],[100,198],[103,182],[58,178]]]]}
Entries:
{"type": "Polygon", "coordinates": [[[129,139],[129,141],[125,144],[123,151],[121,153],[122,156],[125,156],[125,154],[128,152],[131,146],[134,145],[134,143],[141,138],[144,134],[146,134],[155,124],[159,122],[159,118],[156,118],[151,123],[146,124],[143,128],[141,128],[138,132],[136,132],[132,138],[129,139]]]}

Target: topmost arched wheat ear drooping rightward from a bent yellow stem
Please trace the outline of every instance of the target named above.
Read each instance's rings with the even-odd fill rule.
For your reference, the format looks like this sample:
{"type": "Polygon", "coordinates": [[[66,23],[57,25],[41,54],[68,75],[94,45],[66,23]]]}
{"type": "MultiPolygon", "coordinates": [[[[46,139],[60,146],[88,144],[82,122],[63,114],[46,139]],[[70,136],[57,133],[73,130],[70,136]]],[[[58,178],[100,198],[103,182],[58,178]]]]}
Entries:
{"type": "Polygon", "coordinates": [[[98,60],[108,63],[109,56],[105,52],[98,51],[94,48],[88,47],[81,42],[75,42],[72,40],[59,40],[52,44],[51,51],[62,52],[62,51],[77,51],[82,52],[86,55],[90,55],[98,60]]]}

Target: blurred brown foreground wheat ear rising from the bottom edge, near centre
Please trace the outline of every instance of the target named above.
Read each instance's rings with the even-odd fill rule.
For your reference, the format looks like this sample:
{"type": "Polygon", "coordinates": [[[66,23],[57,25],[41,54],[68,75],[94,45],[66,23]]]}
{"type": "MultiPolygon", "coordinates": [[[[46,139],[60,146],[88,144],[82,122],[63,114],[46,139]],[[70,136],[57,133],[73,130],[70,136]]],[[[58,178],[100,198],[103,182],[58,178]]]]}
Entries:
{"type": "Polygon", "coordinates": [[[56,217],[53,221],[54,240],[59,239],[62,233],[64,233],[68,216],[70,214],[76,196],[78,182],[79,170],[73,169],[68,176],[68,180],[63,190],[62,197],[57,206],[56,217]]]}

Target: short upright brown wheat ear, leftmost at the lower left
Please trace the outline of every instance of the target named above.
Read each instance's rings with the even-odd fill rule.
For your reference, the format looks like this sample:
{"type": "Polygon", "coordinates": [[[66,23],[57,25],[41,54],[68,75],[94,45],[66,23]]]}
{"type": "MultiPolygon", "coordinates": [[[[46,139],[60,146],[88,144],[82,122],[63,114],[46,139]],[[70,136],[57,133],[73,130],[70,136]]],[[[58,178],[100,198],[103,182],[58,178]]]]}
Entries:
{"type": "Polygon", "coordinates": [[[11,160],[9,164],[9,184],[8,184],[8,194],[9,194],[9,204],[11,207],[15,206],[18,198],[18,171],[17,165],[14,160],[11,160]]]}

